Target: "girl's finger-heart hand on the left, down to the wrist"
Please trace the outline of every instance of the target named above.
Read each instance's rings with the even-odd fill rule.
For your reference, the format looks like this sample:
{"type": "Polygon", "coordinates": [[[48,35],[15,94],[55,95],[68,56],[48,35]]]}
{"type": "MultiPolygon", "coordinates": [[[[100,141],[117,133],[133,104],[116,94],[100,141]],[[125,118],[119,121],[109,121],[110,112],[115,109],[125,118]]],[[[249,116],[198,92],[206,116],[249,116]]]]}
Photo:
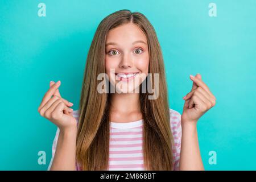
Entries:
{"type": "Polygon", "coordinates": [[[50,82],[50,88],[44,94],[43,100],[38,107],[38,112],[42,117],[53,122],[60,130],[76,129],[76,119],[72,115],[73,109],[69,108],[73,104],[60,96],[59,82],[50,82]],[[53,96],[53,97],[52,97],[53,96]]]}

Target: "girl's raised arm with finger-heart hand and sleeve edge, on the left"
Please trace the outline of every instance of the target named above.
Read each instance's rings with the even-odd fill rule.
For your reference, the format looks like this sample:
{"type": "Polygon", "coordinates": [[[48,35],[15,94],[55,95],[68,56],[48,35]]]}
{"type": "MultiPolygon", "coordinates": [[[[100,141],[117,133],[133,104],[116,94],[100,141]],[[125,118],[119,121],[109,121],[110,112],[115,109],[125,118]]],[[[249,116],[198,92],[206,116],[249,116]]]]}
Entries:
{"type": "Polygon", "coordinates": [[[51,81],[50,88],[38,107],[40,115],[58,127],[48,169],[76,170],[77,120],[73,109],[69,108],[73,104],[61,97],[59,86],[60,81],[51,81]]]}

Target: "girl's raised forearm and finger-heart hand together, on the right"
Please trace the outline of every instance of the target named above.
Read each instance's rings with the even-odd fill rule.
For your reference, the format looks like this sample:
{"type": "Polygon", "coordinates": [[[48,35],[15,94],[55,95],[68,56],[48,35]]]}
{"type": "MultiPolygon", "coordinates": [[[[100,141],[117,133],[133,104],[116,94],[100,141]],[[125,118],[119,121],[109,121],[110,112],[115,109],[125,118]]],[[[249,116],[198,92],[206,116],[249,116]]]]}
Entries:
{"type": "Polygon", "coordinates": [[[216,104],[216,98],[203,82],[200,74],[190,76],[193,81],[191,92],[183,99],[185,104],[181,115],[180,170],[204,170],[197,138],[196,124],[199,118],[216,104]]]}

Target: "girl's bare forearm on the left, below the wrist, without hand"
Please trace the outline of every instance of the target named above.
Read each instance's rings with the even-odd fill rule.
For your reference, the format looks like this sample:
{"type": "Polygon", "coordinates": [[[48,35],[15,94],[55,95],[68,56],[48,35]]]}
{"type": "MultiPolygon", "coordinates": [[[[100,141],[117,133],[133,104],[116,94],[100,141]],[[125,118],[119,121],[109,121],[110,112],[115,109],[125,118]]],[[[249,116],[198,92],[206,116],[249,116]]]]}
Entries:
{"type": "Polygon", "coordinates": [[[76,132],[60,130],[50,170],[76,170],[76,132]]]}

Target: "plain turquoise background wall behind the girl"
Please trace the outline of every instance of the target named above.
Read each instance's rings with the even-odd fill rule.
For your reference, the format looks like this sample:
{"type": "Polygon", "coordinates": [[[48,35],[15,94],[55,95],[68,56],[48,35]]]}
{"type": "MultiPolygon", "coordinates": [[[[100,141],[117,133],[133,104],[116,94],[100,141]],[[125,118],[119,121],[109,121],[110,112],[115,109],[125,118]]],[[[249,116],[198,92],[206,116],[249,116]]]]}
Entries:
{"type": "Polygon", "coordinates": [[[207,170],[256,169],[256,1],[1,1],[0,169],[46,170],[56,126],[38,113],[49,81],[78,109],[86,55],[105,16],[121,9],[147,16],[162,47],[170,107],[182,113],[201,73],[216,106],[198,122],[207,170]],[[46,17],[38,4],[46,3],[46,17]],[[208,15],[216,3],[217,17],[208,15]],[[46,151],[46,165],[38,164],[46,151]],[[208,163],[209,151],[217,164],[208,163]]]}

